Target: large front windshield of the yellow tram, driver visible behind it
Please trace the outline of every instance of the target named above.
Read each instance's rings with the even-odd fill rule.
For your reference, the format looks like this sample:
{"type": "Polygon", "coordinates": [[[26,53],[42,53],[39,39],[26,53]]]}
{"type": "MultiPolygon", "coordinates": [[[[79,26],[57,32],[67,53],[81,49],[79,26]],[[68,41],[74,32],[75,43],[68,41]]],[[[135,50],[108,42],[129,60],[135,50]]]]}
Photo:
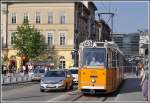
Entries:
{"type": "Polygon", "coordinates": [[[104,66],[105,58],[105,48],[84,48],[83,50],[83,66],[104,66]]]}

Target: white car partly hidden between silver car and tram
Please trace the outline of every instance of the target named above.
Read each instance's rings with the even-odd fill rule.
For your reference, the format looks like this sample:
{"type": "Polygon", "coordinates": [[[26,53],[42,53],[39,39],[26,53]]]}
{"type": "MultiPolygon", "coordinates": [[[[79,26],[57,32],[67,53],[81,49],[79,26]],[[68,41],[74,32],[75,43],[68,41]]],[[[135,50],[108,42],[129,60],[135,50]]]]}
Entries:
{"type": "Polygon", "coordinates": [[[71,67],[69,68],[69,71],[71,72],[73,76],[73,83],[78,84],[78,68],[77,67],[71,67]]]}

